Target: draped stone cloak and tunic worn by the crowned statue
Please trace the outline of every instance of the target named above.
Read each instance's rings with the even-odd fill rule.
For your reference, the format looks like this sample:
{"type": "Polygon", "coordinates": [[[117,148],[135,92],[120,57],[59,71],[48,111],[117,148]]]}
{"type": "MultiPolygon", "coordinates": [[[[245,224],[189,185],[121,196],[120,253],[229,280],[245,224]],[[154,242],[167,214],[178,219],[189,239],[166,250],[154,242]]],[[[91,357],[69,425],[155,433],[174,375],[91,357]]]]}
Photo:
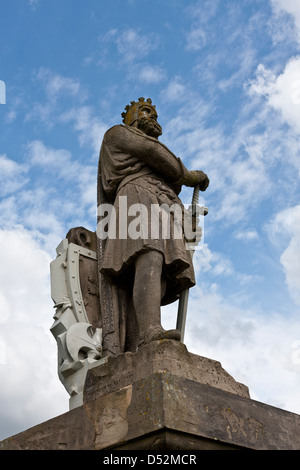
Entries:
{"type": "MultiPolygon", "coordinates": [[[[121,197],[126,207],[142,204],[173,204],[184,207],[178,198],[184,172],[181,160],[153,137],[129,126],[117,125],[103,138],[98,166],[98,209],[101,204],[113,204],[116,215],[116,237],[97,236],[98,277],[103,329],[103,351],[115,355],[134,347],[126,343],[136,329],[132,307],[134,262],[145,251],[157,250],[163,254],[162,276],[166,292],[162,305],[174,302],[182,290],[195,285],[192,258],[185,239],[175,239],[174,217],[170,214],[170,236],[152,238],[151,221],[146,236],[132,239],[119,237],[119,220],[124,220],[121,197]]],[[[130,224],[130,216],[127,223],[130,224]]],[[[99,222],[99,220],[98,220],[99,222]]]]}

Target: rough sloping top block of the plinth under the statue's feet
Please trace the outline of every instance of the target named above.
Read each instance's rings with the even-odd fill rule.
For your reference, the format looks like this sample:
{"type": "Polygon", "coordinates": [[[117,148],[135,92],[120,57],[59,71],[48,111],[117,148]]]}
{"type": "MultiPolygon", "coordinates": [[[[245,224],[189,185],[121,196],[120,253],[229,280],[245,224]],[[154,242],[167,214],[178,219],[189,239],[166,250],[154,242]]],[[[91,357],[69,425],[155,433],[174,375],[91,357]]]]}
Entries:
{"type": "Polygon", "coordinates": [[[161,340],[139,348],[136,353],[120,354],[108,358],[106,364],[91,366],[85,383],[84,402],[160,371],[170,371],[174,375],[249,398],[248,388],[236,382],[220,362],[190,353],[179,341],[161,340]]]}

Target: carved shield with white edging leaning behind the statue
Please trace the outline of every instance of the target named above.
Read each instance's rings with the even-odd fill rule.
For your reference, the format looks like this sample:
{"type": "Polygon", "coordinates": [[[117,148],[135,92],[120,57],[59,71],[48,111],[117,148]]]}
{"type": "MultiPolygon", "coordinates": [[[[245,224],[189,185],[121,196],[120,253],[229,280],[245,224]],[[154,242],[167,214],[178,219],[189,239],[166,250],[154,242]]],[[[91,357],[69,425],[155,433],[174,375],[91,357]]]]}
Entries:
{"type": "Polygon", "coordinates": [[[71,229],[50,265],[56,308],[51,332],[58,346],[58,375],[71,399],[82,395],[89,365],[102,356],[97,253],[93,248],[93,232],[71,229]]]}

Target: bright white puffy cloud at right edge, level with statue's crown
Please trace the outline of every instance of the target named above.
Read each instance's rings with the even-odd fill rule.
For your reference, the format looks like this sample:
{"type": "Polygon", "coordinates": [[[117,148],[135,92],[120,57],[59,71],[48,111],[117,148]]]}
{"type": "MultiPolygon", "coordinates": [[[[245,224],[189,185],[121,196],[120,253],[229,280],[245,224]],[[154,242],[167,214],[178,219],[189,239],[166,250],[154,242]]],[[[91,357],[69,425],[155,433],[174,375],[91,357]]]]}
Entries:
{"type": "Polygon", "coordinates": [[[278,76],[259,65],[249,92],[264,96],[267,104],[279,111],[284,121],[300,133],[300,57],[290,59],[278,76]]]}

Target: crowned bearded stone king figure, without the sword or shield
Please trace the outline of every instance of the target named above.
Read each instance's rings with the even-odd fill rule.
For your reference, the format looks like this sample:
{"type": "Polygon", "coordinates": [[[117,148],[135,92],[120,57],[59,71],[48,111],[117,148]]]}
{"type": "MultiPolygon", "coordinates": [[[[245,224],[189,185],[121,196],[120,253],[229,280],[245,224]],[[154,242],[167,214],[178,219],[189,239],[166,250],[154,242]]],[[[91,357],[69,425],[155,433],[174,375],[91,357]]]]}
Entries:
{"type": "Polygon", "coordinates": [[[160,309],[194,286],[195,275],[186,235],[176,232],[183,225],[178,211],[167,209],[179,207],[182,216],[182,185],[205,191],[209,184],[205,173],[187,170],[158,140],[162,128],[151,99],[132,101],[122,117],[124,125],[104,135],[98,169],[96,232],[104,355],[136,351],[159,339],[180,340],[177,329],[163,329],[160,309]],[[157,232],[153,221],[157,213],[155,220],[162,220],[164,211],[169,216],[168,236],[162,236],[161,228],[157,232]],[[137,230],[130,231],[137,225],[139,236],[137,230]]]}

